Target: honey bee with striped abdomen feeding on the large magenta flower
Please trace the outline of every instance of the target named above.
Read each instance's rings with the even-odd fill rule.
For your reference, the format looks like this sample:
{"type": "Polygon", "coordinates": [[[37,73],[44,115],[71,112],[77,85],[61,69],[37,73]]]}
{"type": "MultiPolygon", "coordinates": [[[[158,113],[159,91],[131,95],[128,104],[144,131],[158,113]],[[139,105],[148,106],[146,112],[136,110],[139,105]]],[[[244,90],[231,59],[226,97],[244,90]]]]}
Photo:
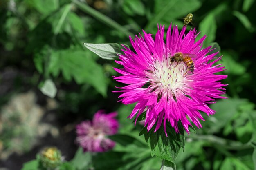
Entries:
{"type": "Polygon", "coordinates": [[[174,61],[177,63],[184,62],[184,64],[186,64],[186,66],[189,68],[189,71],[193,73],[195,69],[195,65],[191,58],[194,58],[194,57],[196,57],[195,54],[185,54],[185,53],[178,52],[171,57],[171,63],[173,63],[174,61]]]}

